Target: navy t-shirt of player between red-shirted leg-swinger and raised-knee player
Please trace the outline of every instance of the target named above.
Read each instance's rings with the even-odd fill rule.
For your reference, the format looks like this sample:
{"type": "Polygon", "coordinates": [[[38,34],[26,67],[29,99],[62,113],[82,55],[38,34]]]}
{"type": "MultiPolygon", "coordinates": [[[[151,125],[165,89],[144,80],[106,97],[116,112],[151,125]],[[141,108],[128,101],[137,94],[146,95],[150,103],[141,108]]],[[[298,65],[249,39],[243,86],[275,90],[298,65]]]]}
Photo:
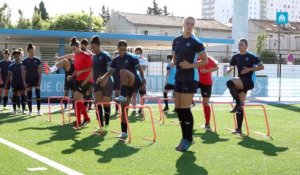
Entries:
{"type": "Polygon", "coordinates": [[[111,56],[106,51],[101,51],[100,54],[93,55],[93,78],[94,82],[103,76],[108,71],[108,66],[111,64],[111,56]]]}

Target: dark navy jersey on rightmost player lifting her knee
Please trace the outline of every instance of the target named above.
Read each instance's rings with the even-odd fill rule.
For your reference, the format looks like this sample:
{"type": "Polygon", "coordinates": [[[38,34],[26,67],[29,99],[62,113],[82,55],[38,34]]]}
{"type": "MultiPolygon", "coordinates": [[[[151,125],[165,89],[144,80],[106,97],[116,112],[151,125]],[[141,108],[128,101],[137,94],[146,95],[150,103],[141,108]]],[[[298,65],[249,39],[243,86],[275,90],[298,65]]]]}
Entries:
{"type": "Polygon", "coordinates": [[[252,52],[247,51],[245,55],[241,55],[240,53],[233,55],[230,60],[230,66],[236,66],[238,69],[238,77],[240,78],[248,78],[252,81],[255,81],[256,75],[255,72],[250,71],[246,74],[241,74],[244,67],[251,68],[255,67],[261,63],[261,60],[252,52]]]}

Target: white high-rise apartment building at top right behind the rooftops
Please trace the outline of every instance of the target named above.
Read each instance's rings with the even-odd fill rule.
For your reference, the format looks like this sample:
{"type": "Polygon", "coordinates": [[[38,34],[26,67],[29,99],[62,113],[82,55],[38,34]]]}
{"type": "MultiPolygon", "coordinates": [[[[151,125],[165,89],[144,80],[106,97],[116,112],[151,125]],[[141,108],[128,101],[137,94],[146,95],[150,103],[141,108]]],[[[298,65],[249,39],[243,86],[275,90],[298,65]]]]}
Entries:
{"type": "MultiPolygon", "coordinates": [[[[249,19],[275,20],[277,11],[289,13],[289,21],[300,21],[300,0],[249,0],[249,19]]],[[[202,18],[226,23],[233,15],[233,0],[202,0],[202,18]]]]}

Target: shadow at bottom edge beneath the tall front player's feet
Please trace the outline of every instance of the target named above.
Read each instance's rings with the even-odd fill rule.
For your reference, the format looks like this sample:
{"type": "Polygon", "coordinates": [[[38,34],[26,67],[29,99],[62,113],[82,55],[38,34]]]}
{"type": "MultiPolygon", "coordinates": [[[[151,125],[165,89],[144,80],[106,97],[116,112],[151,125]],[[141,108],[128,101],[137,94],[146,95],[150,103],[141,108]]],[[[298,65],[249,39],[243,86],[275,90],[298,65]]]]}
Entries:
{"type": "Polygon", "coordinates": [[[201,174],[205,175],[208,174],[207,170],[199,165],[196,164],[196,157],[194,152],[184,152],[179,157],[176,162],[177,173],[176,175],[194,175],[194,174],[201,174]]]}

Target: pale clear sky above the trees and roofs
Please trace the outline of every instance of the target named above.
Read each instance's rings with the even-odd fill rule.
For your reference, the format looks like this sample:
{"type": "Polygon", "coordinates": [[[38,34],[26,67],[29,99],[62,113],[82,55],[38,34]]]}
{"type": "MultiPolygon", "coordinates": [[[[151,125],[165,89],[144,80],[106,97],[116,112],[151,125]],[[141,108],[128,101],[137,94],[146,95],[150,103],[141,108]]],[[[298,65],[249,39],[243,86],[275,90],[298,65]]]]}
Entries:
{"type": "MultiPolygon", "coordinates": [[[[146,13],[147,7],[152,5],[152,0],[43,0],[50,16],[64,14],[68,12],[88,12],[90,8],[94,14],[98,14],[102,5],[114,11],[146,13]]],[[[18,9],[24,12],[25,17],[31,18],[34,5],[41,0],[0,0],[0,5],[8,3],[12,9],[12,21],[17,21],[18,9]]],[[[169,12],[174,16],[194,16],[201,18],[201,0],[156,0],[162,8],[168,7],[169,12]]]]}

